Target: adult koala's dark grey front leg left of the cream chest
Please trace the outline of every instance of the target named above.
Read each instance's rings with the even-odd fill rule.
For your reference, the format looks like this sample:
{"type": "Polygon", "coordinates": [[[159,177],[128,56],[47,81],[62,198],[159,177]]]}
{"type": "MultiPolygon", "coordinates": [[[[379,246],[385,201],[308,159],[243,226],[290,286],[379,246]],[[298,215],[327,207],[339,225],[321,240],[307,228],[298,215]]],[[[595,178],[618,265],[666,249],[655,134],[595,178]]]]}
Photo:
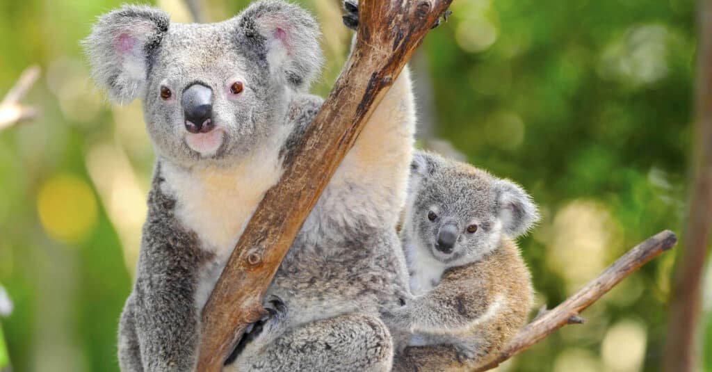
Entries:
{"type": "Polygon", "coordinates": [[[174,201],[161,192],[156,173],[136,284],[119,326],[119,361],[122,371],[192,371],[199,335],[197,273],[211,257],[199,249],[194,233],[180,227],[174,201]]]}

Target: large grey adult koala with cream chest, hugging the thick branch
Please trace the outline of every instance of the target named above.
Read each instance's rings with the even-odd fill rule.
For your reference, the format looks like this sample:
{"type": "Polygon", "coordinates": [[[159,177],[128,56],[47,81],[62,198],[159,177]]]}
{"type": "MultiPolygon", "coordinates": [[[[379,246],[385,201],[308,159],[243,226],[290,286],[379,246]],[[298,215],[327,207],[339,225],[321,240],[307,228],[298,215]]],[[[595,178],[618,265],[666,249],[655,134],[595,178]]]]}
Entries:
{"type": "MultiPolygon", "coordinates": [[[[85,40],[117,103],[143,101],[157,161],[137,279],[119,334],[124,371],[195,368],[199,314],[244,226],[323,100],[315,20],[267,0],[216,24],[172,24],[123,6],[85,40]]],[[[268,290],[231,368],[388,370],[380,311],[409,296],[394,231],[412,155],[403,71],[338,167],[268,290]]]]}

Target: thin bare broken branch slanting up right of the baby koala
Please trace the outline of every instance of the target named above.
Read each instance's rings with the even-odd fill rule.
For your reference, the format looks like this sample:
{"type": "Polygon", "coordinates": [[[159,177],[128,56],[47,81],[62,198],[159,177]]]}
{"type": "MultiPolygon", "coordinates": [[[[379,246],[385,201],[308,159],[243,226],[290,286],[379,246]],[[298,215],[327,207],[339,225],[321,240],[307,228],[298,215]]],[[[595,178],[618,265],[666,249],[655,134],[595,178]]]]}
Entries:
{"type": "Polygon", "coordinates": [[[538,343],[562,326],[582,323],[583,319],[579,316],[581,311],[587,309],[588,306],[600,299],[601,296],[632,272],[662,252],[671,249],[676,243],[677,237],[675,234],[666,230],[638,244],[566,301],[563,301],[554,309],[546,311],[525,326],[509,343],[506,351],[501,353],[496,360],[486,366],[477,368],[475,371],[488,371],[499,366],[503,361],[538,343]]]}

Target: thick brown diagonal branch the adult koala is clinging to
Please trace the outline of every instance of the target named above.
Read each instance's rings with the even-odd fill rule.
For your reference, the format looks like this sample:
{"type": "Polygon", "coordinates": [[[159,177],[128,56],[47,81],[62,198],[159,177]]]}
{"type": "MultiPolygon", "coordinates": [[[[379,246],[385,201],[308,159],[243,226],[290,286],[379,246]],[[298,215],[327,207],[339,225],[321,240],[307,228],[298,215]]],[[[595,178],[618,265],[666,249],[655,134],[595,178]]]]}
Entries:
{"type": "Polygon", "coordinates": [[[280,182],[248,222],[202,313],[198,371],[219,371],[304,220],[389,86],[451,0],[371,0],[355,49],[280,182]]]}

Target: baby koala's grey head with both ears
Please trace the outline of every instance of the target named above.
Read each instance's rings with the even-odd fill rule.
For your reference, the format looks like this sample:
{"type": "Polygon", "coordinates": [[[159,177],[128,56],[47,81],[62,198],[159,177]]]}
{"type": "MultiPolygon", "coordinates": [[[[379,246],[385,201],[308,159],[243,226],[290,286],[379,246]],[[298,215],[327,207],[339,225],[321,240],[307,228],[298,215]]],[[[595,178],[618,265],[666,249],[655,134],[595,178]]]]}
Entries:
{"type": "Polygon", "coordinates": [[[539,219],[518,185],[431,153],[415,153],[408,189],[404,234],[450,267],[478,261],[539,219]]]}

